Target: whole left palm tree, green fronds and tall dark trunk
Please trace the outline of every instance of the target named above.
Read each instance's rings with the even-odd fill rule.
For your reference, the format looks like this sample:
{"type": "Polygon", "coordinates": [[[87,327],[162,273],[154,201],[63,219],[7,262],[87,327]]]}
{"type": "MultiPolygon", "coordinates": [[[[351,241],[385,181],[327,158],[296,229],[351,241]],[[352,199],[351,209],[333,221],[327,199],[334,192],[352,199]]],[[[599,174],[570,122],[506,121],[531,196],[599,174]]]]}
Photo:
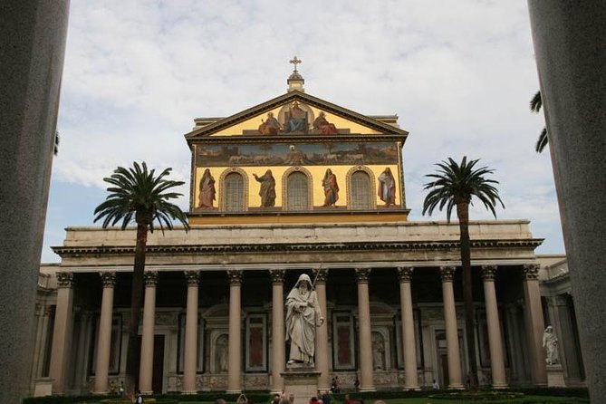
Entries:
{"type": "Polygon", "coordinates": [[[158,221],[162,232],[165,226],[172,229],[173,220],[178,220],[186,231],[189,229],[185,214],[178,206],[169,202],[170,199],[180,197],[182,194],[166,191],[184,184],[183,181],[165,178],[171,170],[172,168],[166,168],[156,176],[154,169],[148,171],[145,162],[140,166],[137,162],[133,162],[132,168],[116,168],[110,178],[103,178],[103,181],[111,184],[111,187],[107,188],[110,195],[95,208],[94,212],[95,222],[104,217],[103,228],[115,226],[120,221],[122,230],[133,220],[137,224],[126,359],[126,391],[130,396],[135,390],[135,374],[139,366],[139,314],[143,295],[148,230],[153,233],[155,221],[158,221]]]}

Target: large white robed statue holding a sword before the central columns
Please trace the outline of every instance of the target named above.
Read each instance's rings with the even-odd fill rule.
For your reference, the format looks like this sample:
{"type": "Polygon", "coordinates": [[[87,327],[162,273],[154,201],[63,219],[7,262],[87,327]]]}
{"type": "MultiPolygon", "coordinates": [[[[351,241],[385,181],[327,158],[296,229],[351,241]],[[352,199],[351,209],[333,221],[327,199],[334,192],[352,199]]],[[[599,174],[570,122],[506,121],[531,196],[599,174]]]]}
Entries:
{"type": "Polygon", "coordinates": [[[312,280],[302,274],[286,297],[286,341],[291,341],[289,364],[313,363],[315,329],[323,322],[312,280]]]}

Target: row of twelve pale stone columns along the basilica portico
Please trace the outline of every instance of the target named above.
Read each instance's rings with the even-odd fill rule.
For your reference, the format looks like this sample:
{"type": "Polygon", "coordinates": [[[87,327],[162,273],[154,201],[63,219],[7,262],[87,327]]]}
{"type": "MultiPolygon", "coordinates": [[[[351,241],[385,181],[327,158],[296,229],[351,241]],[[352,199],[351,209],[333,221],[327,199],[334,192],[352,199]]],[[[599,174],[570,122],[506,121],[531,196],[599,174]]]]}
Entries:
{"type": "MultiPolygon", "coordinates": [[[[369,279],[370,268],[354,268],[358,296],[358,352],[360,374],[360,390],[375,390],[372,368],[372,341],[370,328],[370,299],[369,279]]],[[[458,343],[457,313],[453,292],[455,266],[441,266],[442,296],[444,305],[444,322],[447,336],[447,370],[449,382],[447,388],[462,389],[463,377],[458,343]]],[[[496,389],[507,387],[505,378],[504,348],[501,336],[499,312],[495,295],[496,265],[482,266],[484,284],[486,322],[488,329],[488,344],[491,359],[492,386],[496,389]]],[[[398,268],[399,297],[401,308],[401,342],[405,370],[405,390],[418,390],[417,349],[414,334],[413,307],[411,297],[411,281],[414,268],[402,266],[398,268]]],[[[284,269],[269,271],[272,284],[272,366],[270,370],[270,388],[274,392],[284,390],[282,373],[286,363],[284,352],[284,269]]],[[[322,313],[326,313],[326,269],[316,270],[316,293],[322,313]]],[[[543,314],[538,288],[538,265],[524,265],[524,300],[526,303],[526,330],[529,348],[532,355],[533,379],[536,385],[546,385],[546,371],[542,355],[541,337],[543,335],[543,314]]],[[[182,379],[182,393],[193,394],[199,390],[197,386],[197,332],[198,332],[198,287],[200,273],[187,271],[184,273],[187,282],[187,308],[185,325],[185,351],[182,379]]],[[[101,273],[103,292],[101,297],[101,319],[97,357],[95,366],[95,383],[93,392],[106,394],[109,392],[109,363],[111,345],[111,317],[113,313],[113,292],[116,275],[111,272],[101,273]]],[[[229,322],[228,322],[228,366],[227,392],[237,393],[243,390],[242,385],[242,307],[241,284],[242,270],[228,270],[229,281],[229,322]]],[[[71,313],[73,300],[73,274],[57,274],[59,289],[55,326],[53,331],[53,351],[51,357],[50,377],[53,378],[53,393],[64,390],[65,368],[70,345],[71,313]]],[[[139,368],[139,390],[151,393],[153,339],[155,328],[157,272],[145,274],[145,301],[143,306],[143,324],[141,338],[141,355],[139,368]]],[[[467,336],[467,338],[475,336],[467,336]]],[[[320,326],[316,333],[316,370],[320,372],[318,379],[319,390],[330,389],[329,363],[329,332],[327,322],[320,326]]]]}

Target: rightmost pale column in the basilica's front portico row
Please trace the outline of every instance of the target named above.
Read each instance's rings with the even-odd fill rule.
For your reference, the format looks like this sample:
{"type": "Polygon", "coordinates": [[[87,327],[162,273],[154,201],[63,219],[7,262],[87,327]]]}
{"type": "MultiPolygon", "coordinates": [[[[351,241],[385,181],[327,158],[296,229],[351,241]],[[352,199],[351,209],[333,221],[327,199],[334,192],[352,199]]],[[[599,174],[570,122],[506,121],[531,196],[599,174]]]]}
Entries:
{"type": "Polygon", "coordinates": [[[526,338],[533,370],[533,381],[536,386],[547,385],[547,370],[543,355],[543,309],[539,290],[539,265],[524,265],[524,311],[526,338]]]}

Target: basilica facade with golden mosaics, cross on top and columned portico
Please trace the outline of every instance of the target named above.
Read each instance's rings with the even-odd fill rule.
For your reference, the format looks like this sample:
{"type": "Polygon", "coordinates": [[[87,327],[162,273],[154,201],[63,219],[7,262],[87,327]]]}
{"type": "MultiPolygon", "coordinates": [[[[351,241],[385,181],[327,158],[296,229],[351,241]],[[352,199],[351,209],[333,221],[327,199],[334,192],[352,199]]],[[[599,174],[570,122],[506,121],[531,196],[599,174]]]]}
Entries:
{"type": "MultiPolygon", "coordinates": [[[[467,335],[458,224],[408,220],[409,133],[396,115],[306,93],[294,65],[283,95],[196,119],[185,136],[191,229],[149,235],[139,389],[284,390],[284,298],[301,274],[326,319],[314,336],[320,390],[334,377],[362,391],[464,388],[468,338],[482,385],[548,385],[542,240],[529,222],[470,223],[467,335]]],[[[68,227],[53,247],[61,263],[41,269],[34,394],[104,394],[123,382],[135,233],[68,227]]]]}

